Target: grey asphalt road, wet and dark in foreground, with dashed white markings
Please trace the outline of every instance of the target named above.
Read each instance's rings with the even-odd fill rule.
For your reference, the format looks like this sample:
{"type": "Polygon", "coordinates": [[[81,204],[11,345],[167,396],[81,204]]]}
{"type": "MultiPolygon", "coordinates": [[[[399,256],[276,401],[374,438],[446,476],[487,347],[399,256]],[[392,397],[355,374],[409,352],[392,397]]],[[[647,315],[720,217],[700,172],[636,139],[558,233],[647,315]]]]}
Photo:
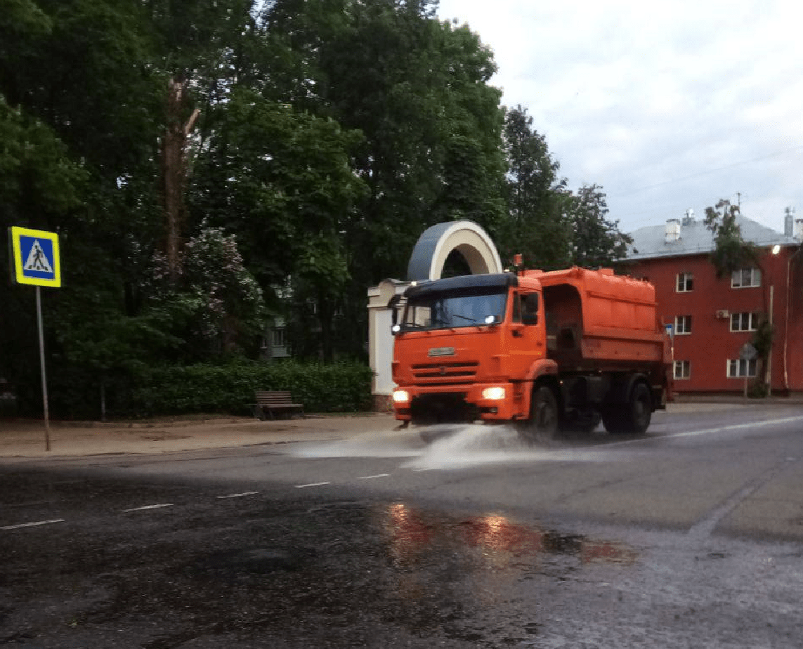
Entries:
{"type": "Polygon", "coordinates": [[[0,645],[803,646],[800,408],[419,433],[0,465],[0,645]]]}

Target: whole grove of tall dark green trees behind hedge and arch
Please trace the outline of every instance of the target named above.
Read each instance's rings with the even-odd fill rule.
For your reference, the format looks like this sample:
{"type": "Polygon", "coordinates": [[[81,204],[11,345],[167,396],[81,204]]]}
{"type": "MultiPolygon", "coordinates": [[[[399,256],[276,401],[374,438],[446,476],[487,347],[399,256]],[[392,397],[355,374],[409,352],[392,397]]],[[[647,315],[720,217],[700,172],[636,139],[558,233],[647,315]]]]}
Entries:
{"type": "MultiPolygon", "coordinates": [[[[366,288],[403,278],[437,222],[532,266],[620,254],[604,194],[566,189],[532,118],[499,105],[491,50],[436,6],[0,0],[0,228],[59,232],[56,410],[157,365],[257,357],[272,316],[298,357],[365,359],[366,288]]],[[[33,410],[31,290],[0,282],[0,304],[0,376],[33,410]]]]}

